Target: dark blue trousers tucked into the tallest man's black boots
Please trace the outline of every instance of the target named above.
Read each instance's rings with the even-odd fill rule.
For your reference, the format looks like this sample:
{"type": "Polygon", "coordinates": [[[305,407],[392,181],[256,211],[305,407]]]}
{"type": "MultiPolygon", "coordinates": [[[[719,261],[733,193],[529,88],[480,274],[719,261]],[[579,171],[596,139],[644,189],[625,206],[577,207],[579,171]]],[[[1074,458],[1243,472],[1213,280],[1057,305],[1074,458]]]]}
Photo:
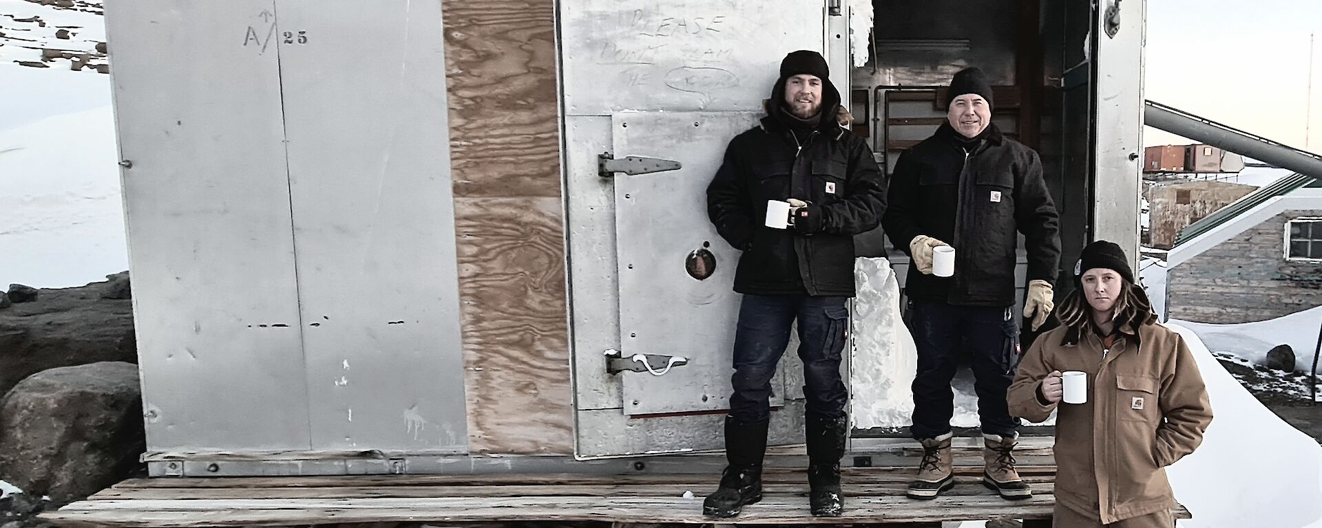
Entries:
{"type": "Polygon", "coordinates": [[[744,294],[735,330],[735,375],[730,417],[740,424],[771,416],[771,378],[776,375],[789,329],[798,319],[798,358],[809,418],[845,416],[841,351],[849,335],[847,297],[744,294]]]}

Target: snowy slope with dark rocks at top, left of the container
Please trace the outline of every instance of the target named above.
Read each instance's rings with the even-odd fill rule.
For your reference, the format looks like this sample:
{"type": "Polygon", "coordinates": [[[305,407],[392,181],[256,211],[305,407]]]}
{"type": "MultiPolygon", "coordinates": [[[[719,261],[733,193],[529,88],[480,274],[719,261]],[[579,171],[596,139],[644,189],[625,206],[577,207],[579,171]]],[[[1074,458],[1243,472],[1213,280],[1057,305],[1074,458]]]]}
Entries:
{"type": "Polygon", "coordinates": [[[45,49],[104,63],[102,18],[99,3],[0,0],[0,286],[78,286],[128,269],[110,75],[42,61],[45,49]]]}

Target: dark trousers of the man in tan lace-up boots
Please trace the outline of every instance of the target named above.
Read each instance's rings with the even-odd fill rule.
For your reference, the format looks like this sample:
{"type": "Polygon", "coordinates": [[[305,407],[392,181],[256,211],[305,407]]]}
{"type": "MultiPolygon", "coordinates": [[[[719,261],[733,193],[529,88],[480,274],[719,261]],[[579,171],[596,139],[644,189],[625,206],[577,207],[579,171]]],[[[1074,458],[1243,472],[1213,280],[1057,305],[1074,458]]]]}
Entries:
{"type": "Polygon", "coordinates": [[[1005,391],[1014,380],[1019,319],[1011,308],[954,306],[940,301],[910,300],[908,327],[917,346],[914,376],[914,438],[935,438],[951,432],[954,391],[951,380],[961,351],[973,368],[982,432],[1014,434],[1005,391]]]}

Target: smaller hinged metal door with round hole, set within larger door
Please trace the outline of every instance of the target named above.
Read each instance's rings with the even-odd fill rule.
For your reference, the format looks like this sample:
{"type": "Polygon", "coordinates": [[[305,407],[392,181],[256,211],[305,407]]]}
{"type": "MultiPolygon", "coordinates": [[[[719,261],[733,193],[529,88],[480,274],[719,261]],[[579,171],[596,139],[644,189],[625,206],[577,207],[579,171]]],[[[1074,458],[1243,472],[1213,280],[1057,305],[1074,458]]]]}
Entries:
{"type": "MultiPolygon", "coordinates": [[[[752,112],[636,112],[612,119],[615,152],[682,158],[683,165],[615,177],[620,350],[661,358],[653,359],[658,364],[646,374],[621,378],[627,414],[730,408],[740,300],[730,285],[740,253],[707,219],[706,189],[726,143],[758,117],[752,112]],[[713,257],[703,265],[715,267],[711,276],[697,279],[686,264],[690,255],[702,252],[713,257]]],[[[784,403],[784,367],[783,362],[772,380],[775,407],[784,403]]]]}

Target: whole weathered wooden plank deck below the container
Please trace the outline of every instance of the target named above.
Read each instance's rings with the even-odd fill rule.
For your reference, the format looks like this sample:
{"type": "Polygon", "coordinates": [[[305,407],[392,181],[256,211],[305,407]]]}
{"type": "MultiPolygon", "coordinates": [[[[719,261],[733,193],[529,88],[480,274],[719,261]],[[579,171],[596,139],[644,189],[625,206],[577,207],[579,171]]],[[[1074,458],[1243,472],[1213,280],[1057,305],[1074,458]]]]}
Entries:
{"type": "MultiPolygon", "coordinates": [[[[904,496],[910,470],[847,469],[846,515],[812,517],[802,470],[767,471],[765,496],[722,524],[886,524],[939,520],[1047,519],[1054,473],[1026,475],[1034,496],[1010,502],[986,490],[980,467],[935,500],[904,496]]],[[[353,523],[616,521],[710,524],[707,474],[636,475],[361,475],[126,480],[89,500],[46,512],[66,527],[194,528],[353,523]],[[320,486],[304,486],[317,483],[320,486]],[[401,484],[403,483],[403,484],[401,484]],[[494,483],[494,484],[493,484],[494,483]],[[693,498],[685,499],[683,492],[693,498]]],[[[1188,519],[1183,507],[1177,519],[1188,519]]]]}

